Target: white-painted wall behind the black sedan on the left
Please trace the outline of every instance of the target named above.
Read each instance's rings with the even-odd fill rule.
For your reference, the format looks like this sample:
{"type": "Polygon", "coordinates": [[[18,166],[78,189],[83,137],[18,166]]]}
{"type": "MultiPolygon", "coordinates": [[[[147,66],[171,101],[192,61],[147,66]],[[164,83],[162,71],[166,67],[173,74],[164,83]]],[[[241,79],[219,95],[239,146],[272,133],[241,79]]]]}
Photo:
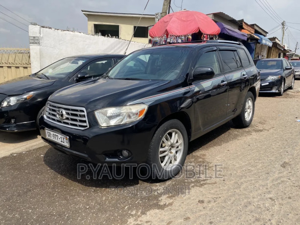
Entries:
{"type": "MultiPolygon", "coordinates": [[[[124,54],[129,41],[93,36],[79,32],[29,25],[29,36],[40,38],[39,45],[30,45],[31,70],[37,72],[62,58],[98,53],[124,54]]],[[[127,54],[151,45],[131,42],[127,54]]]]}

